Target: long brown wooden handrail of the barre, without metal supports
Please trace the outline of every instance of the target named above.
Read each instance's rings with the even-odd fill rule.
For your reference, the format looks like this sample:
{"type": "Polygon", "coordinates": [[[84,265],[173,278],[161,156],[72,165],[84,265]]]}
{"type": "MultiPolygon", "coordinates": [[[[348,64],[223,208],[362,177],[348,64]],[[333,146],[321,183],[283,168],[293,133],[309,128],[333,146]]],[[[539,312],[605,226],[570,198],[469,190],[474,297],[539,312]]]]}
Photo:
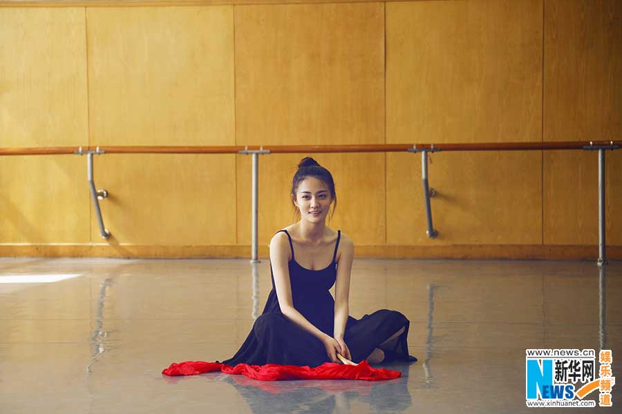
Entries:
{"type": "Polygon", "coordinates": [[[74,154],[79,148],[109,154],[235,154],[243,150],[267,150],[279,153],[319,152],[405,152],[428,151],[511,151],[511,150],[582,150],[585,147],[620,147],[622,141],[560,141],[560,142],[487,142],[464,144],[358,144],[358,145],[268,145],[268,146],[84,146],[0,148],[0,155],[55,155],[74,154]]]}

